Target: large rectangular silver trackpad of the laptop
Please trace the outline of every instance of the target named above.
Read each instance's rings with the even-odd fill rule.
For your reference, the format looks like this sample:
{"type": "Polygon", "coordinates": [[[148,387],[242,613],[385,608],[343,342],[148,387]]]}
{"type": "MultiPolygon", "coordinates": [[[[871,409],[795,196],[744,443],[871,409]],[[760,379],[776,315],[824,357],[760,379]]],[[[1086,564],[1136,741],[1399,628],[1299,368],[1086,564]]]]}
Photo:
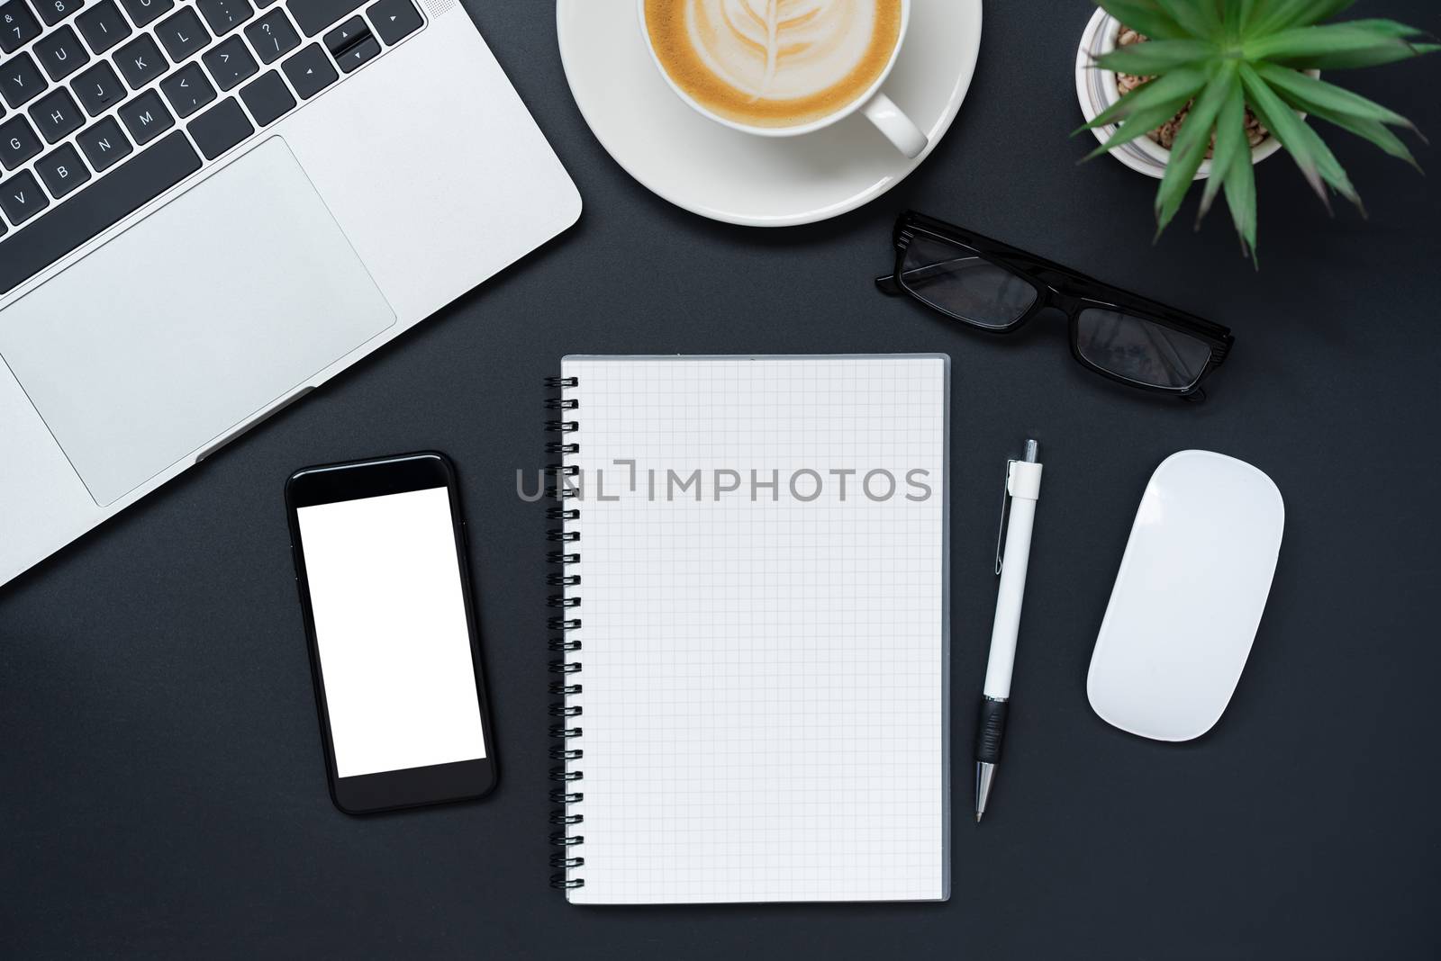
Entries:
{"type": "Polygon", "coordinates": [[[0,357],[105,506],[392,324],[272,138],[0,311],[0,357]]]}

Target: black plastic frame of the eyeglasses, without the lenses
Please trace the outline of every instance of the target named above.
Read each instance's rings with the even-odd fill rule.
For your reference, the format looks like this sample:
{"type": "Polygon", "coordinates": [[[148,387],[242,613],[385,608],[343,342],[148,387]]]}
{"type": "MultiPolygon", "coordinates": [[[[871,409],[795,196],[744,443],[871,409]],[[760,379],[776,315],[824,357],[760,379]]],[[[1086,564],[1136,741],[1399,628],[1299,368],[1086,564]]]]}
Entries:
{"type": "Polygon", "coordinates": [[[1210,377],[1212,373],[1215,373],[1218,367],[1222,365],[1222,363],[1225,363],[1226,355],[1236,342],[1236,338],[1231,334],[1231,328],[1222,327],[1221,324],[1196,316],[1195,314],[1187,314],[1186,311],[1176,309],[1161,304],[1160,301],[1141,296],[1140,293],[1133,293],[1115,285],[1105,283],[1104,281],[1098,281],[1087,273],[1056,263],[1055,260],[1048,260],[1039,255],[1013,247],[1009,243],[1001,243],[1000,240],[994,240],[976,233],[974,230],[967,230],[965,227],[958,227],[935,217],[928,217],[927,214],[916,213],[915,210],[905,210],[899,217],[896,217],[892,242],[896,247],[896,266],[892,273],[876,278],[876,286],[882,293],[889,296],[902,293],[909,295],[937,314],[958,321],[971,329],[996,335],[1014,334],[1022,327],[1029,324],[1040,311],[1050,308],[1059,309],[1069,321],[1071,355],[1076,360],[1076,363],[1087,370],[1101,374],[1102,377],[1114,380],[1120,384],[1125,384],[1127,387],[1136,387],[1137,390],[1147,390],[1157,394],[1170,394],[1173,397],[1180,397],[1182,400],[1205,400],[1206,391],[1202,390],[1202,384],[1208,377],[1210,377]],[[1035,302],[1026,308],[1020,316],[1004,327],[978,324],[974,319],[937,306],[922,298],[916,291],[911,289],[911,286],[908,286],[902,279],[906,249],[911,246],[911,242],[916,237],[916,234],[927,234],[941,243],[950,243],[968,249],[980,259],[993,263],[1016,279],[1029,283],[1036,292],[1035,302]],[[1160,327],[1179,331],[1208,344],[1210,347],[1210,357],[1206,358],[1200,373],[1196,374],[1196,378],[1186,387],[1163,387],[1160,384],[1147,384],[1144,381],[1124,377],[1101,367],[1095,361],[1087,360],[1087,357],[1081,352],[1081,312],[1088,308],[1101,308],[1128,314],[1131,316],[1159,324],[1160,327]]]}

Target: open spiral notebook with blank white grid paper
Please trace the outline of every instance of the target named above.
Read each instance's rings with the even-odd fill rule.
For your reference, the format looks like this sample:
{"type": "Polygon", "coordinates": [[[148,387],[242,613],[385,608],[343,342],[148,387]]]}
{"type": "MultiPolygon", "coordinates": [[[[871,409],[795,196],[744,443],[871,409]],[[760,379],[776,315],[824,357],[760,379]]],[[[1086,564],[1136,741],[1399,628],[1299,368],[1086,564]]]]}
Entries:
{"type": "Polygon", "coordinates": [[[552,883],[950,893],[944,355],[566,357],[552,883]]]}

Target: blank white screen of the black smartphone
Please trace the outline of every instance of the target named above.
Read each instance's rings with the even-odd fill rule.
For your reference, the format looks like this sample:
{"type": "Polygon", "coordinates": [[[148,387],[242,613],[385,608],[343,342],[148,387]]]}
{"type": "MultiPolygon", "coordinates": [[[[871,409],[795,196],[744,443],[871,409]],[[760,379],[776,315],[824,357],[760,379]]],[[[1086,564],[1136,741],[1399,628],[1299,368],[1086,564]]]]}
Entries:
{"type": "Polygon", "coordinates": [[[337,777],[486,757],[450,492],[297,516],[337,777]]]}

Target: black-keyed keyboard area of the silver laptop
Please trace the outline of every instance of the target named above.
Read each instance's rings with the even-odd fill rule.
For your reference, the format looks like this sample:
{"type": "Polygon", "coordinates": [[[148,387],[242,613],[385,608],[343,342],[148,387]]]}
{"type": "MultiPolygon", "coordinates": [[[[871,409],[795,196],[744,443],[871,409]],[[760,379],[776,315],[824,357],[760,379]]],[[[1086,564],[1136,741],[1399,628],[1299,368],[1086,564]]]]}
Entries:
{"type": "Polygon", "coordinates": [[[0,293],[422,24],[414,0],[0,0],[0,293]]]}

